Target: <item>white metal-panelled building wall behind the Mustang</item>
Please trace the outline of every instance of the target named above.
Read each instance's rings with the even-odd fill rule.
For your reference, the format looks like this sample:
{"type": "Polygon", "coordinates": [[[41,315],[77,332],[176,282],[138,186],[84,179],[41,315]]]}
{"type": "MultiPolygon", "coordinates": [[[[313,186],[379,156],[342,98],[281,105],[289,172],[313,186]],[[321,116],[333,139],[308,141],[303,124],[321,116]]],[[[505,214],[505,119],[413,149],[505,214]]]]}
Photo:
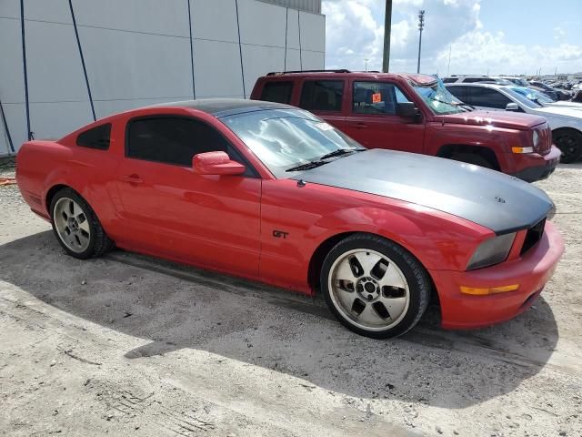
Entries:
{"type": "Polygon", "coordinates": [[[0,156],[128,108],[324,67],[321,0],[0,0],[0,156]]]}

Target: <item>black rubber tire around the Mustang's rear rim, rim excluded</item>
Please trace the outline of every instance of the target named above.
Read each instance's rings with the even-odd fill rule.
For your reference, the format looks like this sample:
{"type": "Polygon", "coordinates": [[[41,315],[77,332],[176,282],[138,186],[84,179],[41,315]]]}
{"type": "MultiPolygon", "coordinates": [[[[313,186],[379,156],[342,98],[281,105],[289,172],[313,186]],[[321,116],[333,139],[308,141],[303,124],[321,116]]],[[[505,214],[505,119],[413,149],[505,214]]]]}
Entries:
{"type": "Polygon", "coordinates": [[[101,226],[99,219],[95,215],[93,208],[82,198],[74,189],[63,188],[55,193],[55,196],[51,198],[49,212],[51,215],[51,224],[53,225],[53,232],[55,232],[55,237],[61,247],[65,249],[65,252],[75,257],[76,259],[89,259],[93,257],[99,257],[103,255],[107,250],[113,249],[115,243],[110,239],[105,233],[105,229],[101,226]],[[82,209],[85,215],[89,231],[89,242],[88,247],[83,251],[75,251],[70,249],[63,239],[59,236],[59,232],[55,225],[55,205],[61,199],[71,199],[82,209]]]}

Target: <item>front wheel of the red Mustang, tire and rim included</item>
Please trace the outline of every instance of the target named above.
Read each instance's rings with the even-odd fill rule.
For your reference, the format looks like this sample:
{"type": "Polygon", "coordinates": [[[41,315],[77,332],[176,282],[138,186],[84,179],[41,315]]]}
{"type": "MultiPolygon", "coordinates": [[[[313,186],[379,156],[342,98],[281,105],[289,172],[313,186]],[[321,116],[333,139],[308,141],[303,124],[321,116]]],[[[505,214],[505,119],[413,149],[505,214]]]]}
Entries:
{"type": "Polygon", "coordinates": [[[426,310],[430,279],[406,249],[355,234],[327,254],[321,287],[329,309],[348,329],[375,339],[404,334],[426,310]]]}

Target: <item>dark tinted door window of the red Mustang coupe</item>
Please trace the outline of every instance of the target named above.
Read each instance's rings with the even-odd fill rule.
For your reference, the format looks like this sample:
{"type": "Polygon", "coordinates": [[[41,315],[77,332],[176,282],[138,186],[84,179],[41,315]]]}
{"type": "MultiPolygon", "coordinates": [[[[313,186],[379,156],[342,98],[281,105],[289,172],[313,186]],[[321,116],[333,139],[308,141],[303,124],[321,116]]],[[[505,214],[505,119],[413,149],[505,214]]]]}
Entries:
{"type": "Polygon", "coordinates": [[[198,153],[228,149],[226,138],[206,123],[186,117],[146,117],[129,122],[125,154],[129,158],[192,166],[198,153]]]}

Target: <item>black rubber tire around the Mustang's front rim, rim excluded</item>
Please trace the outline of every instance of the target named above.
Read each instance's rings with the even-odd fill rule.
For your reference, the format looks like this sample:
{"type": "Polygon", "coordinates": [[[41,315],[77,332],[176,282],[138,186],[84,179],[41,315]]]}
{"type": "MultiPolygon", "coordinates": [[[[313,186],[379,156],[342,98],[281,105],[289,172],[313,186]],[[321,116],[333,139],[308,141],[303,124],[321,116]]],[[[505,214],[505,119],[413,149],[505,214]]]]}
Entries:
{"type": "MultiPolygon", "coordinates": [[[[360,277],[361,279],[358,280],[366,280],[365,276],[365,274],[362,274],[360,277]]],[[[347,329],[353,330],[357,334],[373,339],[396,337],[398,335],[404,334],[407,330],[411,330],[416,325],[418,320],[420,320],[426,310],[432,284],[426,269],[406,249],[388,239],[363,233],[357,233],[341,240],[336,244],[336,246],[334,246],[333,249],[329,251],[321,269],[320,281],[321,290],[326,299],[327,306],[336,316],[337,320],[346,326],[347,329]],[[342,308],[343,310],[346,309],[345,307],[342,307],[341,303],[338,303],[338,300],[334,297],[336,294],[332,296],[332,293],[337,292],[330,289],[330,282],[334,280],[333,276],[330,276],[333,275],[332,268],[334,268],[335,265],[337,266],[338,262],[341,262],[340,259],[346,259],[346,254],[349,254],[357,249],[368,249],[385,256],[386,259],[389,259],[389,261],[393,263],[396,268],[399,269],[400,272],[404,275],[408,287],[408,305],[407,308],[401,312],[401,319],[396,320],[396,325],[388,326],[386,329],[383,329],[382,327],[375,327],[374,330],[358,326],[356,324],[356,320],[350,319],[348,315],[344,314],[342,310],[340,310],[342,308]]],[[[355,284],[354,288],[356,289],[356,287],[361,287],[361,285],[356,286],[355,284]]],[[[356,293],[356,290],[354,290],[354,292],[356,293]]],[[[364,291],[364,293],[366,293],[366,291],[364,291]]],[[[382,293],[382,291],[380,291],[380,293],[382,293]]],[[[359,298],[356,298],[356,300],[359,300],[359,298]]],[[[376,305],[376,302],[370,302],[371,301],[366,302],[366,304],[372,305],[372,307],[376,305]]],[[[354,307],[352,307],[352,309],[353,308],[354,307]]],[[[352,312],[353,317],[359,317],[355,316],[355,314],[355,312],[352,312]]],[[[392,320],[392,316],[390,316],[389,319],[392,320]]]]}

